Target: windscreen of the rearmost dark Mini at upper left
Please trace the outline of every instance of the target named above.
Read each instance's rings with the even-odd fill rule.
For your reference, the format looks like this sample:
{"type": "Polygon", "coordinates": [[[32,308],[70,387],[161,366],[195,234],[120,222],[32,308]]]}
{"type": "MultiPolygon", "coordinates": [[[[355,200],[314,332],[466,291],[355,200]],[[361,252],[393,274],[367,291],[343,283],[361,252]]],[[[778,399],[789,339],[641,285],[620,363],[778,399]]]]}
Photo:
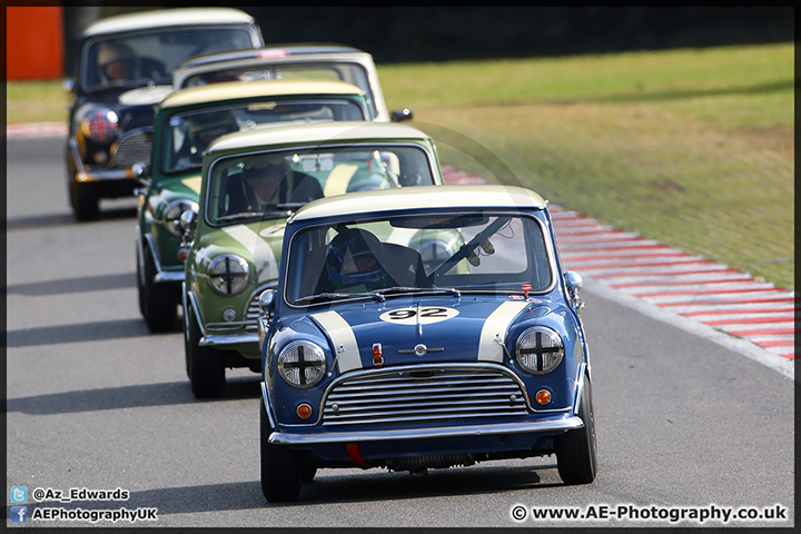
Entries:
{"type": "Polygon", "coordinates": [[[171,72],[201,53],[253,48],[245,28],[165,28],[97,38],[81,56],[81,85],[100,87],[170,83],[171,72]]]}

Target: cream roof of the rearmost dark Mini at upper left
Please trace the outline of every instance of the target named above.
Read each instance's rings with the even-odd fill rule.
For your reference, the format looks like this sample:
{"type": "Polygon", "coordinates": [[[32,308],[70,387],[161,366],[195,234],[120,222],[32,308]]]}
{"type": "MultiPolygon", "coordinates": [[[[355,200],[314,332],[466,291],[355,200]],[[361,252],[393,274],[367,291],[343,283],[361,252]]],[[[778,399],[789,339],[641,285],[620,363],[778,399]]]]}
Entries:
{"type": "Polygon", "coordinates": [[[230,24],[253,21],[254,18],[248,13],[233,8],[156,9],[100,19],[83,31],[83,37],[177,24],[230,24]]]}

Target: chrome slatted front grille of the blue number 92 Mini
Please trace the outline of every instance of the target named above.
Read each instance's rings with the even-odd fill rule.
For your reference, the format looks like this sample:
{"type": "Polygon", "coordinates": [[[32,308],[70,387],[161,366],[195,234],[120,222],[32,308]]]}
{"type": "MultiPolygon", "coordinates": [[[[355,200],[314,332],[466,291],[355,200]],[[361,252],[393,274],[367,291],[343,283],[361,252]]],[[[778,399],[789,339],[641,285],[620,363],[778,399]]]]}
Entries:
{"type": "Polygon", "coordinates": [[[324,400],[323,426],[425,424],[527,413],[520,383],[502,367],[415,366],[337,383],[324,400]]]}

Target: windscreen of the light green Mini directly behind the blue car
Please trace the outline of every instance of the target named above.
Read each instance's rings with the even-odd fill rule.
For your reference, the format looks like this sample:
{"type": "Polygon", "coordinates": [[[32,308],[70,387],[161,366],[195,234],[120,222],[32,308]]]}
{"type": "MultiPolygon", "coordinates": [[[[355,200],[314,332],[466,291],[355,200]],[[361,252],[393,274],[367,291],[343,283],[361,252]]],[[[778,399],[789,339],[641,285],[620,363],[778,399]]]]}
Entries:
{"type": "Polygon", "coordinates": [[[212,225],[278,218],[317,198],[432,185],[431,156],[418,146],[314,146],[230,156],[210,166],[206,217],[212,225]]]}

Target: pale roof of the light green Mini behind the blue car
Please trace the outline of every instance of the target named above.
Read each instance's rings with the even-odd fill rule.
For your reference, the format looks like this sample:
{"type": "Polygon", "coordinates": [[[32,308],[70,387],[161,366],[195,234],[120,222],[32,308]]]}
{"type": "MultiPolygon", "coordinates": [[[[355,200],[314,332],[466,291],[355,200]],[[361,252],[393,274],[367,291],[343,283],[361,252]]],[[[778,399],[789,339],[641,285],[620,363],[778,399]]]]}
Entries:
{"type": "MultiPolygon", "coordinates": [[[[248,82],[253,83],[253,82],[248,82]]],[[[218,150],[263,148],[268,145],[304,145],[322,141],[359,140],[402,141],[405,139],[428,140],[429,137],[408,125],[398,122],[330,121],[312,125],[269,126],[228,134],[218,137],[208,147],[209,152],[218,150]]]]}

